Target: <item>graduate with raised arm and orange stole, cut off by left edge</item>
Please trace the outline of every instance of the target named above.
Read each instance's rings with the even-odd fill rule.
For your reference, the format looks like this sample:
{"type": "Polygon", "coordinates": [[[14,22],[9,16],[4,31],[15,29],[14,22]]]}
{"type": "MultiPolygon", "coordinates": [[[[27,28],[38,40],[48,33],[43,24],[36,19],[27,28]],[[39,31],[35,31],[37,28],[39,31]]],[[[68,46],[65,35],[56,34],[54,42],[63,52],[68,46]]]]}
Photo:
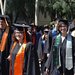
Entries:
{"type": "Polygon", "coordinates": [[[10,19],[7,15],[0,15],[0,75],[9,74],[10,19]]]}

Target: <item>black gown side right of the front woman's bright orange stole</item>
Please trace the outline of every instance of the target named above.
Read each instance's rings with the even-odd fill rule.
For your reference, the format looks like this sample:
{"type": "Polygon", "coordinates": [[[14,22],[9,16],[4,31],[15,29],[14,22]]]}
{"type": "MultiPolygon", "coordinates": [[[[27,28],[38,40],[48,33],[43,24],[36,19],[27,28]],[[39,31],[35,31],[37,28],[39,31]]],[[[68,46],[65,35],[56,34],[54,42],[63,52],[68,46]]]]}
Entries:
{"type": "Polygon", "coordinates": [[[31,42],[26,46],[23,75],[40,75],[37,52],[31,42]]]}

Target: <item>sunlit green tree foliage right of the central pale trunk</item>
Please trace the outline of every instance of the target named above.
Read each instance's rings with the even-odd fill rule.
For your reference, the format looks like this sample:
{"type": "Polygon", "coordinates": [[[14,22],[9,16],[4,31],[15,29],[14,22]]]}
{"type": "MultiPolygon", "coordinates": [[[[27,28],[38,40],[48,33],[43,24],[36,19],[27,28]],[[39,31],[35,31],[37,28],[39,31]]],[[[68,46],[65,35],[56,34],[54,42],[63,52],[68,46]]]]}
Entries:
{"type": "Polygon", "coordinates": [[[50,17],[65,17],[72,19],[75,15],[75,0],[40,0],[39,11],[45,15],[49,13],[50,17]]]}

